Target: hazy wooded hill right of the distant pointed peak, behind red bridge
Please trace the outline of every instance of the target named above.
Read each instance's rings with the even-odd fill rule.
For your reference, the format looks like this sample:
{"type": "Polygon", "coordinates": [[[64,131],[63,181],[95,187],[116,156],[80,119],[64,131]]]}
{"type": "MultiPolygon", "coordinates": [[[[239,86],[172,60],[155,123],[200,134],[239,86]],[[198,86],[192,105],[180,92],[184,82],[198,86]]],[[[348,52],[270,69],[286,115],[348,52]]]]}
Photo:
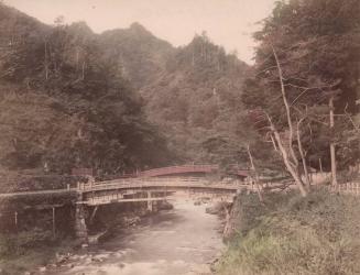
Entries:
{"type": "Polygon", "coordinates": [[[155,81],[140,89],[146,114],[183,158],[234,162],[232,154],[237,150],[229,146],[237,140],[247,69],[244,63],[227,55],[206,34],[196,35],[189,45],[174,52],[155,81]]]}

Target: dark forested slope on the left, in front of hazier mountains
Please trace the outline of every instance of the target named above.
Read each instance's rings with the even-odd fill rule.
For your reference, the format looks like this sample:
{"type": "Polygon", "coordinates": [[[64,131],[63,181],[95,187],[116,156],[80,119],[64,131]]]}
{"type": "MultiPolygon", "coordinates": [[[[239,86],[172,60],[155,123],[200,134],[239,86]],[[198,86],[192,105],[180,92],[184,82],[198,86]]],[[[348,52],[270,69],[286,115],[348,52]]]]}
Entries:
{"type": "Polygon", "coordinates": [[[46,26],[0,7],[1,165],[103,172],[167,163],[141,97],[84,23],[46,26]]]}

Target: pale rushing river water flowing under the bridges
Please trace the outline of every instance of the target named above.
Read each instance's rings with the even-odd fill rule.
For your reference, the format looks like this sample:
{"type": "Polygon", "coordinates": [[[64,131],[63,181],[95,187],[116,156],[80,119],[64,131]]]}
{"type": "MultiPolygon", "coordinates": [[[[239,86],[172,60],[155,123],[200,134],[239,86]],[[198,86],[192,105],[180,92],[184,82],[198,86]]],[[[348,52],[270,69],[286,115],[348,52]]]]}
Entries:
{"type": "Polygon", "coordinates": [[[221,252],[221,224],[208,205],[177,198],[174,209],[144,219],[111,240],[73,255],[51,274],[178,275],[209,273],[221,252]]]}

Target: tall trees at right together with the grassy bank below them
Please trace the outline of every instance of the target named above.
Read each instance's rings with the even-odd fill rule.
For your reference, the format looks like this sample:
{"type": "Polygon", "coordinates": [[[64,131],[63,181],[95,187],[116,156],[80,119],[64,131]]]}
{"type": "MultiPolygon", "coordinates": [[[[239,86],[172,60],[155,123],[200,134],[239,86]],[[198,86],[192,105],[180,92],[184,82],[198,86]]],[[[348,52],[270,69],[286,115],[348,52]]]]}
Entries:
{"type": "Polygon", "coordinates": [[[273,165],[296,190],[237,198],[217,274],[360,274],[359,198],[339,190],[359,184],[359,12],[357,0],[277,1],[254,34],[241,97],[251,176],[261,186],[273,165]],[[257,154],[265,142],[266,162],[257,154]],[[316,186],[314,169],[331,172],[331,186],[316,186]]]}

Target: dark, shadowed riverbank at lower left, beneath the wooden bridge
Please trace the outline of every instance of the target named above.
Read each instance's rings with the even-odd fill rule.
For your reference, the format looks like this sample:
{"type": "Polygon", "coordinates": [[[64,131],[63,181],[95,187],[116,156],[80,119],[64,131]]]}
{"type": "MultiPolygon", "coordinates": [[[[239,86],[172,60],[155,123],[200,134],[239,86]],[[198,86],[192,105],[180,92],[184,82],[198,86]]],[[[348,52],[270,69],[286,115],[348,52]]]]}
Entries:
{"type": "MultiPolygon", "coordinates": [[[[54,198],[51,199],[54,202],[54,198]]],[[[33,201],[28,202],[31,206],[33,201]]],[[[7,209],[17,209],[19,205],[18,200],[13,200],[8,202],[7,209]]],[[[162,204],[156,210],[170,207],[171,205],[162,204]]],[[[72,205],[56,210],[55,235],[52,231],[52,212],[46,209],[26,208],[25,212],[18,215],[17,227],[10,224],[12,220],[4,224],[8,227],[0,234],[0,275],[46,274],[50,268],[67,265],[69,256],[84,246],[75,237],[74,211],[72,205]]],[[[134,227],[142,218],[154,215],[146,211],[145,204],[131,202],[102,208],[97,223],[92,222],[89,227],[91,244],[96,244],[98,239],[111,239],[117,228],[134,227]]],[[[2,218],[3,221],[9,220],[8,217],[2,218]]]]}

